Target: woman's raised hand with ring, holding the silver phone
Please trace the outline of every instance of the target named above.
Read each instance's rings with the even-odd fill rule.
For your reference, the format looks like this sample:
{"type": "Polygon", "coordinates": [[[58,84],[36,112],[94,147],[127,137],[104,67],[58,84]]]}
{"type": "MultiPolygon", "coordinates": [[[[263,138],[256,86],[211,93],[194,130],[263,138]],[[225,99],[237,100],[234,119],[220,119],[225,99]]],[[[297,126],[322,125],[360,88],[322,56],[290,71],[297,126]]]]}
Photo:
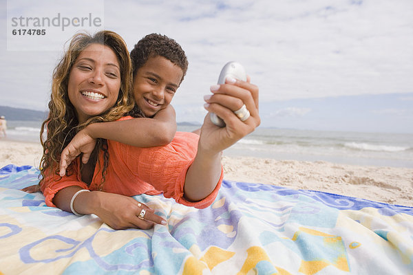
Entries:
{"type": "Polygon", "coordinates": [[[249,77],[247,82],[227,78],[226,84],[211,86],[213,95],[205,97],[207,104],[204,107],[222,118],[226,126],[215,126],[208,113],[201,128],[198,150],[203,149],[210,153],[223,151],[260,125],[258,87],[249,83],[249,80],[249,77]],[[241,121],[234,113],[243,104],[250,113],[250,117],[245,121],[241,121]]]}

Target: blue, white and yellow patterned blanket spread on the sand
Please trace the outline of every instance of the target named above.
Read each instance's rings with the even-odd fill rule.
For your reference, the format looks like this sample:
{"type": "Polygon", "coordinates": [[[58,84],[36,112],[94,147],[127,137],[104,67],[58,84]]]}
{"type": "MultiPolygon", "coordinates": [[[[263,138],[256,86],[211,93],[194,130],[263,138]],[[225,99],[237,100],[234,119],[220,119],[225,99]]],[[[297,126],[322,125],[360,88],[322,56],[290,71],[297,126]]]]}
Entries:
{"type": "Polygon", "coordinates": [[[167,226],[112,230],[45,206],[0,169],[0,274],[413,274],[413,208],[224,180],[198,210],[138,195],[167,226]]]}

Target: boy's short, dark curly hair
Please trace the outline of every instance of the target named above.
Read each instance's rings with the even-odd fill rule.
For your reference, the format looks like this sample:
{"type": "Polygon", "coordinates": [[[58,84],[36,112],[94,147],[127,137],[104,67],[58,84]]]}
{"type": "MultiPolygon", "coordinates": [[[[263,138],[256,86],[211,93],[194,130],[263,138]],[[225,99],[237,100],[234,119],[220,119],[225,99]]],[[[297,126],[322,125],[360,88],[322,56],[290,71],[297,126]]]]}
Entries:
{"type": "Polygon", "coordinates": [[[173,39],[162,34],[148,34],[136,43],[134,50],[131,51],[131,61],[133,76],[140,67],[145,65],[149,58],[162,56],[167,58],[171,63],[182,69],[182,80],[187,74],[188,60],[182,47],[173,39]]]}

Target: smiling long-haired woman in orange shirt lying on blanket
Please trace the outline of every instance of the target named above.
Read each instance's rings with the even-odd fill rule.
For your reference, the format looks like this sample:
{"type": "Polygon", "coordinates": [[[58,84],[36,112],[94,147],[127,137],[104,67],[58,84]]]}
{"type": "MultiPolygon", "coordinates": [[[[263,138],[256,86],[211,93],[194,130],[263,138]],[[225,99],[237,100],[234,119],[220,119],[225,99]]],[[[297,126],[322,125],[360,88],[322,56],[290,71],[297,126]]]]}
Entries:
{"type": "MultiPolygon", "coordinates": [[[[76,158],[61,177],[61,148],[79,130],[93,122],[139,115],[132,98],[129,63],[124,41],[113,32],[74,36],[54,70],[50,116],[42,127],[47,126],[47,138],[42,139],[40,184],[47,205],[74,214],[96,214],[115,229],[165,223],[133,195],[163,192],[187,206],[209,206],[222,181],[220,152],[260,124],[257,87],[230,79],[211,87],[214,96],[205,106],[224,119],[224,128],[212,124],[207,115],[200,137],[178,132],[165,146],[138,148],[98,139],[87,164],[76,158]],[[216,95],[226,100],[218,104],[220,96],[216,95]],[[251,113],[245,121],[233,113],[240,103],[251,113]]],[[[149,104],[155,107],[157,103],[151,100],[149,104]]]]}

